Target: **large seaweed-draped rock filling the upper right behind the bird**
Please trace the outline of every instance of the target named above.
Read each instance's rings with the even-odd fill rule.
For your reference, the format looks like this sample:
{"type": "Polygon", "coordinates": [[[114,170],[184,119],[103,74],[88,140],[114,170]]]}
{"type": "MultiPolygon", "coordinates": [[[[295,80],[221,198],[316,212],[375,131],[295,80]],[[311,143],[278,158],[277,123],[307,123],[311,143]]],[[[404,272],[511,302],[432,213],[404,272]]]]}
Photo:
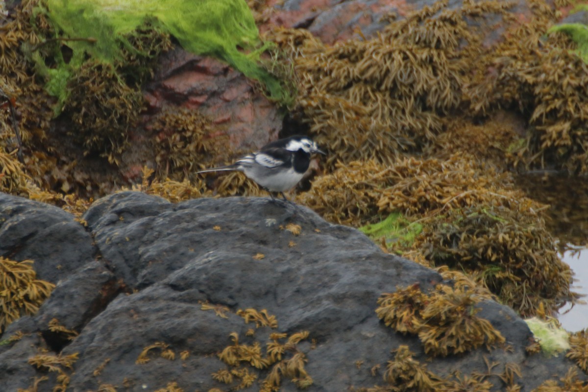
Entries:
{"type": "Polygon", "coordinates": [[[299,26],[308,29],[275,28],[267,36],[293,64],[295,117],[334,153],[331,169],[337,160],[387,163],[402,153],[439,152],[447,140],[437,136],[456,119],[467,126],[460,124],[463,132],[448,139],[466,145],[495,132],[492,118],[505,109],[517,113],[524,129],[516,129],[519,119],[505,123],[511,129],[495,145],[501,158],[524,169],[586,172],[585,26],[555,25],[569,2],[440,1],[412,9],[358,1],[321,3],[312,12],[298,10],[303,3],[277,7],[273,18],[293,27],[296,16],[306,14],[299,26]],[[401,18],[371,19],[387,6],[401,18]],[[361,16],[324,23],[327,14],[354,7],[361,16]],[[293,19],[280,21],[280,13],[293,19]],[[375,29],[363,35],[366,21],[375,29]],[[355,29],[354,38],[333,44],[330,32],[339,28],[346,37],[355,29]]]}

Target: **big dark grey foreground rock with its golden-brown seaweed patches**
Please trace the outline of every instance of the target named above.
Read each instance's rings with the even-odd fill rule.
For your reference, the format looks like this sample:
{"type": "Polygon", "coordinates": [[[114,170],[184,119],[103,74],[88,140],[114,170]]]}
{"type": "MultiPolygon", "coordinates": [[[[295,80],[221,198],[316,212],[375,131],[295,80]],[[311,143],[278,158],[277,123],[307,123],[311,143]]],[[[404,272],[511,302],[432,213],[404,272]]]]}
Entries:
{"type": "Polygon", "coordinates": [[[35,316],[8,326],[4,385],[532,390],[568,370],[570,380],[585,379],[563,356],[529,356],[526,323],[467,279],[386,254],[305,207],[264,197],[172,204],[123,192],[83,218],[102,257],[58,284],[35,316]],[[408,299],[403,309],[421,307],[429,333],[445,331],[447,347],[465,346],[436,352],[422,345],[427,327],[418,330],[423,343],[387,327],[394,318],[375,310],[394,292],[408,299]],[[487,340],[462,335],[460,315],[487,340]]]}

